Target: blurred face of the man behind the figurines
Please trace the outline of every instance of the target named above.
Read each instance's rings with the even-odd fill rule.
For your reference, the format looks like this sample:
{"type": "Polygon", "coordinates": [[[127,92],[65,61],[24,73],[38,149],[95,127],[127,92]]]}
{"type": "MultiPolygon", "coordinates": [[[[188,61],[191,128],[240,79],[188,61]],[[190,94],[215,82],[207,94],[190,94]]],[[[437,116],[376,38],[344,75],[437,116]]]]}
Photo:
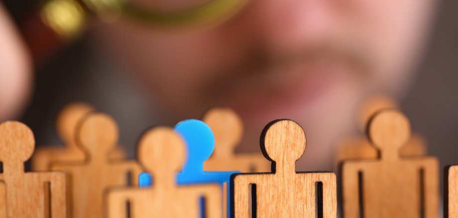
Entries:
{"type": "Polygon", "coordinates": [[[323,166],[361,96],[406,88],[433,1],[252,0],[216,27],[163,31],[123,19],[99,36],[169,115],[229,106],[253,151],[263,125],[294,119],[308,137],[301,161],[323,166]]]}

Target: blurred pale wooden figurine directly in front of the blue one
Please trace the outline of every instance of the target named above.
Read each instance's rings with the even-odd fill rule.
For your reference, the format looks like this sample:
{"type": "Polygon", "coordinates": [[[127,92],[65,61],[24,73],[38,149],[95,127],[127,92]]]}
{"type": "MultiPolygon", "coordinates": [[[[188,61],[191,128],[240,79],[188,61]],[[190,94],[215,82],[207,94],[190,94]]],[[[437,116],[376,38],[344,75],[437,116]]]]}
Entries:
{"type": "Polygon", "coordinates": [[[114,189],[108,193],[108,217],[126,218],[221,218],[222,190],[218,184],[177,185],[185,158],[183,139],[172,128],[157,127],[146,132],[138,144],[138,157],[154,182],[148,188],[114,189]],[[201,213],[201,198],[205,216],[201,213]]]}

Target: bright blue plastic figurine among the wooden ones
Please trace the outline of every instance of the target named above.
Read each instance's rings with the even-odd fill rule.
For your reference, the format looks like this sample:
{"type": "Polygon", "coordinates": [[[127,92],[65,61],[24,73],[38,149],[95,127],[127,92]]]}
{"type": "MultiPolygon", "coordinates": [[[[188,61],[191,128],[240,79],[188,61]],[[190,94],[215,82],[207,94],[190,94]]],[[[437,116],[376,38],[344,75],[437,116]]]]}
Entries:
{"type": "MultiPolygon", "coordinates": [[[[230,175],[240,173],[239,171],[205,171],[204,161],[207,160],[213,153],[215,148],[215,136],[210,127],[197,119],[187,119],[179,122],[175,126],[175,131],[180,133],[184,138],[187,147],[187,158],[180,173],[177,174],[177,182],[179,185],[202,184],[202,183],[218,183],[223,186],[227,183],[227,208],[228,217],[230,201],[229,187],[230,175]]],[[[141,173],[138,176],[139,187],[151,186],[151,175],[141,173]]],[[[202,209],[203,210],[203,209],[202,209]]]]}

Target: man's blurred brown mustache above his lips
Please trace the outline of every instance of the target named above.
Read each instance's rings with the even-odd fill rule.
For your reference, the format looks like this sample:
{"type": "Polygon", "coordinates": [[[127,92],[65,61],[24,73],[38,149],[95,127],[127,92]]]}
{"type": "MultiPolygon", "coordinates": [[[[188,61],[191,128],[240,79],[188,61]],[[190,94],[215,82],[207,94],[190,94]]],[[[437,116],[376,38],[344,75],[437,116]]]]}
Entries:
{"type": "Polygon", "coordinates": [[[358,74],[358,77],[367,77],[374,70],[373,55],[357,40],[323,41],[276,53],[254,45],[248,53],[246,59],[224,66],[211,74],[215,77],[203,83],[201,96],[207,100],[221,98],[241,84],[262,83],[264,77],[279,74],[282,69],[297,64],[312,66],[319,62],[337,60],[354,69],[352,72],[358,74]]]}

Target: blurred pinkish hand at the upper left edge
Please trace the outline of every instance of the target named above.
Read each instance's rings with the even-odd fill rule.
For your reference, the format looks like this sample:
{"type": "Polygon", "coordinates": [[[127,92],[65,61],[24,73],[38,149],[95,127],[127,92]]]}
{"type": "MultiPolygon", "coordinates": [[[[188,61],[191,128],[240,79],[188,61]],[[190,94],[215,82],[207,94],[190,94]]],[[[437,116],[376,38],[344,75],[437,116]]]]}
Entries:
{"type": "Polygon", "coordinates": [[[32,63],[0,2],[0,121],[17,118],[32,86],[32,63]]]}

